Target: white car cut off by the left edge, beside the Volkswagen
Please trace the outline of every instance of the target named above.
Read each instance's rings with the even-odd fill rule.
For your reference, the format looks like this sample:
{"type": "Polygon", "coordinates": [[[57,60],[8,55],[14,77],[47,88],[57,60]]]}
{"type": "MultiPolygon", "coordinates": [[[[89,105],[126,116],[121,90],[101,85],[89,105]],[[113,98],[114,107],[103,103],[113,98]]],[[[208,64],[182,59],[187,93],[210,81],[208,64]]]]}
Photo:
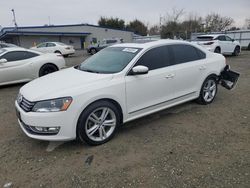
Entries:
{"type": "Polygon", "coordinates": [[[0,86],[28,82],[64,68],[60,54],[43,54],[24,48],[0,49],[0,86]]]}

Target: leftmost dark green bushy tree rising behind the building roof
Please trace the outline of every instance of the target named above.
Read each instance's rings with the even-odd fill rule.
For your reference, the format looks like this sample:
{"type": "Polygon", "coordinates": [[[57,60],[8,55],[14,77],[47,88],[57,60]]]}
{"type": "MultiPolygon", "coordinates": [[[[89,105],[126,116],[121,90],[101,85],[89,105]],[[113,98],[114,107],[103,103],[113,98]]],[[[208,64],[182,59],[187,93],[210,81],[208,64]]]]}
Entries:
{"type": "Polygon", "coordinates": [[[109,27],[114,29],[124,29],[125,28],[125,21],[120,18],[106,18],[101,16],[98,25],[102,27],[109,27]]]}

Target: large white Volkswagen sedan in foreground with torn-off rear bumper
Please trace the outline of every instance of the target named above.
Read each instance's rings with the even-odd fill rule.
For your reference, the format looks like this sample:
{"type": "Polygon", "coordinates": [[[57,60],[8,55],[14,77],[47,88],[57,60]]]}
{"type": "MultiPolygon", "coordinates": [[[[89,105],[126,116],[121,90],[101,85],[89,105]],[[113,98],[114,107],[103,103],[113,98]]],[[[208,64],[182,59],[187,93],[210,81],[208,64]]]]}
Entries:
{"type": "Polygon", "coordinates": [[[98,145],[125,122],[194,99],[209,104],[219,82],[231,89],[238,77],[222,55],[188,42],[117,44],[26,84],[15,106],[31,138],[98,145]]]}

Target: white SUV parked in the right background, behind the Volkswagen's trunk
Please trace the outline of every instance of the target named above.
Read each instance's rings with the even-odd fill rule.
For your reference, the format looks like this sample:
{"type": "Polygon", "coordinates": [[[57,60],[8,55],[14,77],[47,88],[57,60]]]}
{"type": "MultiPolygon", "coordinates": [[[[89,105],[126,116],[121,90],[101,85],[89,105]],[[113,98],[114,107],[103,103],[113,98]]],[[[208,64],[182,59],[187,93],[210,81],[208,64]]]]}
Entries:
{"type": "Polygon", "coordinates": [[[230,54],[238,56],[241,52],[240,43],[223,34],[200,35],[196,37],[194,42],[211,52],[221,53],[224,55],[230,54]]]}

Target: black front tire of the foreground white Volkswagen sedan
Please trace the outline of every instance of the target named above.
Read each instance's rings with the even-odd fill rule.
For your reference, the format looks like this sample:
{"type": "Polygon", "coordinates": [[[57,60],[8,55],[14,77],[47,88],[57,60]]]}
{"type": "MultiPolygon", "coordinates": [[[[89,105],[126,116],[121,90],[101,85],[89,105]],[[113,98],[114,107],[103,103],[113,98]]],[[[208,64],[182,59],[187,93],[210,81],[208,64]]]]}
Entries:
{"type": "MultiPolygon", "coordinates": [[[[102,113],[103,113],[103,111],[99,114],[102,114],[102,113]]],[[[109,116],[111,117],[111,115],[108,114],[107,118],[110,118],[109,116]]],[[[105,100],[92,103],[81,113],[81,115],[78,119],[77,129],[76,129],[77,139],[80,140],[81,142],[86,142],[87,144],[92,145],[92,146],[104,144],[114,137],[116,131],[118,130],[118,128],[120,126],[120,122],[121,122],[120,120],[121,120],[121,117],[120,117],[119,110],[113,103],[105,101],[105,100]],[[101,111],[103,108],[108,108],[109,110],[112,111],[112,114],[115,116],[116,122],[115,122],[115,125],[112,126],[113,128],[110,126],[110,128],[108,129],[109,126],[102,125],[102,124],[104,124],[105,121],[108,121],[107,119],[101,120],[101,116],[98,117],[99,111],[101,111]],[[93,114],[93,113],[95,113],[96,117],[98,117],[98,120],[100,122],[102,121],[102,123],[99,122],[100,123],[99,124],[99,123],[92,122],[92,125],[91,125],[90,118],[93,117],[93,116],[91,116],[91,114],[93,114]],[[89,128],[89,130],[93,129],[94,126],[96,127],[96,128],[94,128],[95,131],[91,131],[92,132],[92,133],[90,133],[90,134],[92,134],[91,136],[88,135],[88,133],[87,133],[88,126],[90,126],[90,127],[92,126],[91,128],[89,128]],[[107,136],[106,138],[105,138],[105,136],[103,136],[103,133],[101,133],[104,139],[102,138],[102,136],[100,136],[100,127],[101,126],[103,126],[104,129],[105,129],[105,127],[107,128],[106,136],[107,136],[108,131],[112,131],[110,133],[110,135],[107,136]],[[111,130],[111,128],[112,128],[112,130],[111,130]],[[98,136],[99,136],[99,138],[98,138],[98,136]],[[91,138],[91,137],[94,137],[94,138],[91,138]],[[97,140],[97,139],[100,139],[100,137],[103,140],[97,140]]],[[[112,121],[112,119],[111,119],[111,121],[112,121]]]]}

